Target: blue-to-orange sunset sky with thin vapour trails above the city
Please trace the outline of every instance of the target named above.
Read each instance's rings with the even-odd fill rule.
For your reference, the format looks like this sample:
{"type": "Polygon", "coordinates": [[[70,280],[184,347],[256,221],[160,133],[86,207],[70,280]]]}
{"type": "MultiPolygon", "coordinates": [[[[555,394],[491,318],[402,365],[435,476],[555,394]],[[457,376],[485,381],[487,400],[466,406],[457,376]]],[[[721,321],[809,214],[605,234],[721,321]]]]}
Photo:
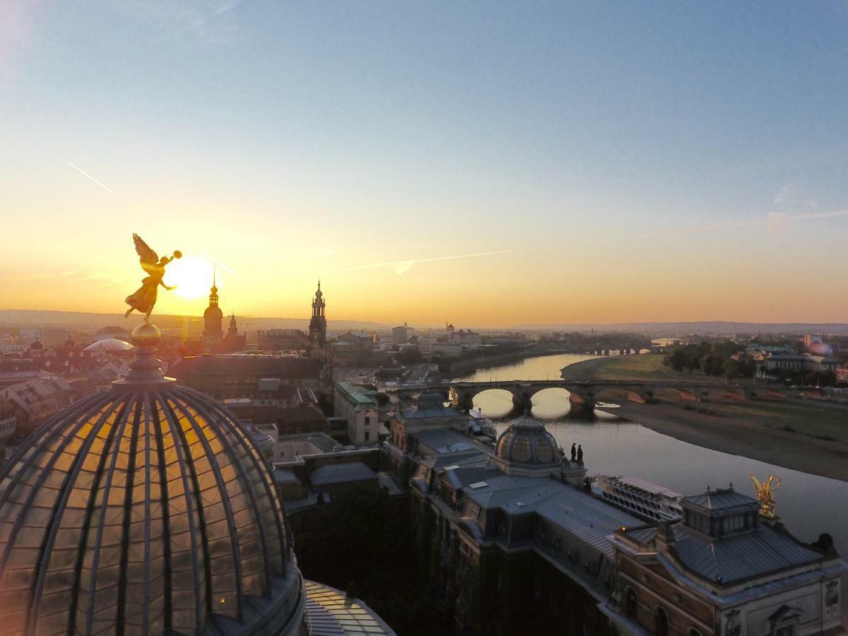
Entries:
{"type": "Polygon", "coordinates": [[[848,10],[763,6],[5,3],[0,308],[844,321],[848,10]]]}

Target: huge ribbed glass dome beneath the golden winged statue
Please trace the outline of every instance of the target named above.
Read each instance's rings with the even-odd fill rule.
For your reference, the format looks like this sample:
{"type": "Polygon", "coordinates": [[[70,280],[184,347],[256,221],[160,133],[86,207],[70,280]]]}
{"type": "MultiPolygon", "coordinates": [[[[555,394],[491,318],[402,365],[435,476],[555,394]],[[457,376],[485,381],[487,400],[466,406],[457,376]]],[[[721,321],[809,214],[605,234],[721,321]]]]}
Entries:
{"type": "Polygon", "coordinates": [[[150,381],[153,349],[137,351],[143,382],[76,402],[0,469],[0,633],[302,629],[265,461],[215,400],[150,381]]]}

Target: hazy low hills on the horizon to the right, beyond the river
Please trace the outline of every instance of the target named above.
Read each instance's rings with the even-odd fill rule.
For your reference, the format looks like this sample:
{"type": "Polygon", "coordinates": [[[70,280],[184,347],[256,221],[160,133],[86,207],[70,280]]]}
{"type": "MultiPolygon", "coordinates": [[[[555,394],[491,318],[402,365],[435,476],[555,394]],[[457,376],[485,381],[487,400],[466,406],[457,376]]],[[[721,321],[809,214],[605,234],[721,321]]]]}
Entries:
{"type": "Polygon", "coordinates": [[[848,335],[848,324],[842,322],[613,322],[610,324],[585,325],[518,325],[519,331],[559,331],[559,332],[639,332],[649,336],[682,336],[689,333],[723,334],[732,333],[787,333],[802,335],[805,333],[828,333],[840,336],[848,335]]]}

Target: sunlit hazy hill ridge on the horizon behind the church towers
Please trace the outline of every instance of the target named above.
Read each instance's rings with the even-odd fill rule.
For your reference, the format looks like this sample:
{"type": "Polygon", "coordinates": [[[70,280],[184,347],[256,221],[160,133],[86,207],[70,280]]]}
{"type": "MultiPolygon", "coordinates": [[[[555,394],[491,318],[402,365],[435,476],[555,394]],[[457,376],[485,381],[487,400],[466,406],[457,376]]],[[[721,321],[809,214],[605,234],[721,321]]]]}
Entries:
{"type": "MultiPolygon", "coordinates": [[[[256,318],[252,316],[236,316],[239,330],[248,329],[307,329],[308,318],[256,318]]],[[[156,315],[154,321],[162,329],[200,329],[203,319],[199,316],[185,315],[156,315]]],[[[87,314],[77,311],[37,311],[37,310],[0,310],[0,326],[39,326],[64,327],[79,329],[100,329],[104,326],[136,326],[140,322],[139,315],[124,318],[123,314],[87,314]]],[[[226,323],[226,320],[225,320],[226,323]]],[[[225,325],[226,326],[226,325],[225,325]]],[[[351,330],[382,330],[390,325],[368,321],[327,321],[327,329],[332,332],[351,330]]]]}

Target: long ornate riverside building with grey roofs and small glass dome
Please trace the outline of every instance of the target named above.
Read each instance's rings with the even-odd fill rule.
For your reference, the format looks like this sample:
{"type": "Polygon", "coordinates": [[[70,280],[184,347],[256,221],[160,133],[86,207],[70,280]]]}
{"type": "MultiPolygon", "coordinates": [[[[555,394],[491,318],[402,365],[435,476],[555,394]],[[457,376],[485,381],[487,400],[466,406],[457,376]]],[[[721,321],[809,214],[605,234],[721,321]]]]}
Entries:
{"type": "Polygon", "coordinates": [[[494,449],[444,414],[399,416],[384,452],[410,484],[416,560],[449,633],[844,633],[832,541],[801,543],[756,499],[712,490],[683,498],[682,520],[644,522],[589,494],[583,463],[528,415],[494,449]]]}

